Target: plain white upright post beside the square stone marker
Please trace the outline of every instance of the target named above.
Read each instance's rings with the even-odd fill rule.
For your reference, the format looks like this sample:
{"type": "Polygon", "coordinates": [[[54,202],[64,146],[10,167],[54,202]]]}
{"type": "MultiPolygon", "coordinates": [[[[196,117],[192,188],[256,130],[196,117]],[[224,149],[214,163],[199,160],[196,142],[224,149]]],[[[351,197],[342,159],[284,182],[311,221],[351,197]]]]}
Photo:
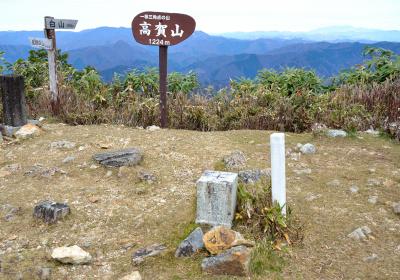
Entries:
{"type": "Polygon", "coordinates": [[[270,144],[272,202],[284,206],[282,214],[286,216],[285,134],[273,133],[270,144]]]}

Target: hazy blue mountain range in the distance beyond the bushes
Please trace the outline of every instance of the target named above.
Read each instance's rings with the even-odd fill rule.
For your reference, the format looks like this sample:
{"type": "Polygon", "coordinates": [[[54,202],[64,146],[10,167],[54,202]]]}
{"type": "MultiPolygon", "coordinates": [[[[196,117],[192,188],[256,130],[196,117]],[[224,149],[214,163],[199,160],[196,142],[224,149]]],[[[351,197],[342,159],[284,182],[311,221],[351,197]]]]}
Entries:
{"type": "MultiPolygon", "coordinates": [[[[6,52],[10,62],[26,58],[29,37],[43,37],[43,32],[0,32],[0,51],[6,52]]],[[[254,77],[262,68],[303,67],[329,77],[361,63],[365,46],[400,53],[400,31],[340,27],[308,33],[249,32],[223,36],[197,31],[185,42],[169,48],[169,71],[194,70],[204,85],[216,86],[226,85],[230,78],[254,77]]],[[[114,72],[123,74],[132,68],[158,65],[158,48],[136,43],[129,28],[57,32],[57,47],[68,51],[69,62],[75,67],[94,66],[107,81],[114,72]]]]}

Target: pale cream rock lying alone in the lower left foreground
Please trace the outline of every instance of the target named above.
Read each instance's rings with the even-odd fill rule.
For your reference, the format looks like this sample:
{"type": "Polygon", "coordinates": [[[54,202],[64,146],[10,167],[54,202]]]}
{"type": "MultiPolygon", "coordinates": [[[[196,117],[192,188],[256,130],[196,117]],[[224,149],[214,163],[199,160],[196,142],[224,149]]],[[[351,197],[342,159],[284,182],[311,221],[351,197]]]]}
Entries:
{"type": "Polygon", "coordinates": [[[77,245],[55,248],[51,257],[68,264],[86,264],[92,260],[92,256],[77,245]]]}

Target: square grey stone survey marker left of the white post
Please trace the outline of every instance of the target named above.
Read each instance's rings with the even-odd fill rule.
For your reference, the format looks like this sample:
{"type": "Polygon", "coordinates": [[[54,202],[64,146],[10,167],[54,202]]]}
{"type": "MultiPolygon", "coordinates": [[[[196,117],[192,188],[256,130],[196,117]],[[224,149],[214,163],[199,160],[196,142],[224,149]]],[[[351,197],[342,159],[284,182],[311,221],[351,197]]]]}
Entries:
{"type": "Polygon", "coordinates": [[[197,181],[197,224],[232,227],[238,175],[205,171],[197,181]]]}

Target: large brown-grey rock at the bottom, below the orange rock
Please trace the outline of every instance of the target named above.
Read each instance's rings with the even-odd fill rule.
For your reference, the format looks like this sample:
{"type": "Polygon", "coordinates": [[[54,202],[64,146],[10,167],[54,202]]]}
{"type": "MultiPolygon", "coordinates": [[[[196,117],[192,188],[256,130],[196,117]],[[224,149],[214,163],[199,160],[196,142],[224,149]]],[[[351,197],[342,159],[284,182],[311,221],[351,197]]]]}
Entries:
{"type": "Polygon", "coordinates": [[[248,276],[251,250],[238,246],[216,256],[205,258],[201,263],[203,272],[214,275],[248,276]]]}

